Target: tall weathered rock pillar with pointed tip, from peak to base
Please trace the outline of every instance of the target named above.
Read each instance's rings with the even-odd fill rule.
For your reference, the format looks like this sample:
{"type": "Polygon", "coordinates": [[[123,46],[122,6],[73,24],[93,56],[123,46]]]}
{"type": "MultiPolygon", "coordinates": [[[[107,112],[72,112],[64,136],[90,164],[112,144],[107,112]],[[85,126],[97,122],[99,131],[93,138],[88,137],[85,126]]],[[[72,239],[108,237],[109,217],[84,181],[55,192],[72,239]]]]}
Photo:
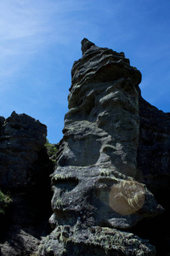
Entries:
{"type": "MultiPolygon", "coordinates": [[[[164,150],[169,150],[170,123],[156,133],[159,111],[141,98],[141,74],[123,53],[84,38],[82,58],[75,61],[71,78],[69,112],[52,175],[54,231],[40,254],[156,255],[148,241],[120,230],[163,212],[151,193],[156,189],[150,186],[150,192],[147,185],[151,175],[156,187],[162,169],[169,177],[164,150]],[[160,171],[150,163],[158,137],[160,145],[166,141],[158,158],[160,171]]],[[[162,113],[162,118],[167,116],[162,113]]]]}

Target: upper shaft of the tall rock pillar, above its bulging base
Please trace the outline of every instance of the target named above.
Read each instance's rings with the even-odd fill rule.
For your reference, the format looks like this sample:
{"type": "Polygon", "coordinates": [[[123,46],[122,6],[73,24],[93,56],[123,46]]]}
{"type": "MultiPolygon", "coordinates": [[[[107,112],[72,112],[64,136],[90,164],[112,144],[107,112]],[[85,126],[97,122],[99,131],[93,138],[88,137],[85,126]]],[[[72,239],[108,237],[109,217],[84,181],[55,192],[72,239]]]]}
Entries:
{"type": "Polygon", "coordinates": [[[61,166],[104,165],[135,177],[141,74],[124,54],[82,40],[72,67],[61,166]]]}

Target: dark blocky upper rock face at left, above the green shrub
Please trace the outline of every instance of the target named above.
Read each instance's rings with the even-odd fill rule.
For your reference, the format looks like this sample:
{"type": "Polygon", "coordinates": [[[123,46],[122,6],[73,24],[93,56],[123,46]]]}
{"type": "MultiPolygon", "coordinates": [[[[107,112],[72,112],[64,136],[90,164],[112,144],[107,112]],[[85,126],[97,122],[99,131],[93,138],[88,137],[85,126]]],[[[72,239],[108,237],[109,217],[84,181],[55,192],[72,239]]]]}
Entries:
{"type": "Polygon", "coordinates": [[[13,112],[0,131],[0,185],[30,187],[35,183],[38,152],[46,143],[47,128],[26,114],[13,112]]]}

